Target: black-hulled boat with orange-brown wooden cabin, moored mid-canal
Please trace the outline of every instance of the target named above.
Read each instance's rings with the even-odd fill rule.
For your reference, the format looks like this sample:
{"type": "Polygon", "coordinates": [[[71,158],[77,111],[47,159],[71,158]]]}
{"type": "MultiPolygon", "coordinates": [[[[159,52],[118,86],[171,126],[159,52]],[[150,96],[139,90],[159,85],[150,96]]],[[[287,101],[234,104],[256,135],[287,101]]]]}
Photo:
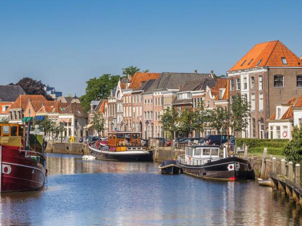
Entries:
{"type": "Polygon", "coordinates": [[[90,144],[93,156],[113,161],[153,161],[153,151],[140,144],[140,132],[110,132],[108,145],[90,144]]]}

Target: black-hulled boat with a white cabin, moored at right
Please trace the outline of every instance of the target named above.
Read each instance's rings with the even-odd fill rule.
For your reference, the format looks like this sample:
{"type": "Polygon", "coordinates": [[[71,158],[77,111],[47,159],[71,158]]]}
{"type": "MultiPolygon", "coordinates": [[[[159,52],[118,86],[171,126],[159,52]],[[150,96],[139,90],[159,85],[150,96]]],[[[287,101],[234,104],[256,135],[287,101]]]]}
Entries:
{"type": "Polygon", "coordinates": [[[219,156],[219,146],[192,145],[187,146],[184,155],[178,156],[178,162],[184,173],[192,176],[240,180],[255,179],[255,173],[247,160],[227,156],[224,150],[223,157],[219,156]]]}

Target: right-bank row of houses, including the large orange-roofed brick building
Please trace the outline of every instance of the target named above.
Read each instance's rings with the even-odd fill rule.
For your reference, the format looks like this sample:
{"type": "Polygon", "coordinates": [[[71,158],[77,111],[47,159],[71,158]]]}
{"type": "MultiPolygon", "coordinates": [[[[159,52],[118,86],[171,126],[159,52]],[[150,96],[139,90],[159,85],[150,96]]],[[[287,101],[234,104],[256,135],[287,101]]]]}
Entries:
{"type": "MultiPolygon", "coordinates": [[[[299,126],[302,117],[298,101],[302,93],[301,58],[280,41],[259,43],[226,74],[216,78],[213,73],[196,70],[136,72],[119,81],[108,99],[92,102],[89,114],[101,109],[104,135],[109,131],[139,131],[143,138],[163,137],[160,116],[165,108],[175,107],[181,112],[201,101],[205,108],[228,108],[236,95],[242,95],[251,105],[251,117],[242,137],[291,138],[292,127],[299,126]]],[[[200,136],[215,133],[207,128],[200,136]]]]}

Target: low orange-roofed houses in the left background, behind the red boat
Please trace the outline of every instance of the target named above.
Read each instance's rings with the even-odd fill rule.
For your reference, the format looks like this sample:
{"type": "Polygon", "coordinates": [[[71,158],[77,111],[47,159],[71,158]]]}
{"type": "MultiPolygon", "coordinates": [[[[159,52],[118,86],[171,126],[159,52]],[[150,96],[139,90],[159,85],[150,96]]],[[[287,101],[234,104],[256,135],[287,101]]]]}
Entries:
{"type": "Polygon", "coordinates": [[[47,117],[64,127],[62,136],[79,140],[85,135],[88,114],[78,97],[47,100],[42,95],[27,95],[20,86],[0,86],[0,122],[22,124],[25,117],[43,120],[47,117]]]}

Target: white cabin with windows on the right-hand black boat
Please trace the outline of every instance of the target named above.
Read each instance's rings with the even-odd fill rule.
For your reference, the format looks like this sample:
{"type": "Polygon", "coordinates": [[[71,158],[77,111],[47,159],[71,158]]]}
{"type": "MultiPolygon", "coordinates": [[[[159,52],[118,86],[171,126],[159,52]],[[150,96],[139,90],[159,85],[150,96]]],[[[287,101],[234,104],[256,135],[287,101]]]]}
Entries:
{"type": "Polygon", "coordinates": [[[184,158],[180,158],[181,163],[190,165],[203,165],[207,162],[218,160],[218,145],[192,145],[185,149],[184,158]]]}

